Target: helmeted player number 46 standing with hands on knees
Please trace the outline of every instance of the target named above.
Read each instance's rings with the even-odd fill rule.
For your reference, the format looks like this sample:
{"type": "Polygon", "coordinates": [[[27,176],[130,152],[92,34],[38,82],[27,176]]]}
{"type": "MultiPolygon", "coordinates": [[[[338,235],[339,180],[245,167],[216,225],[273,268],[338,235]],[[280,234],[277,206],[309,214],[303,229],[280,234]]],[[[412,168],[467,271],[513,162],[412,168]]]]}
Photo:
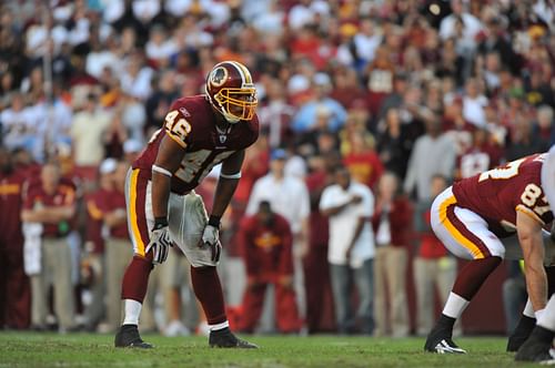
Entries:
{"type": "Polygon", "coordinates": [[[128,226],[134,256],[122,285],[125,318],[117,347],[150,348],[138,330],[149,274],[176,244],[191,263],[191,280],[210,327],[211,347],[255,348],[229,328],[216,264],[220,219],[233,196],[244,150],[259,135],[256,91],[250,71],[221,62],[205,94],[176,100],[127,178],[128,226]],[[194,188],[222,163],[210,217],[194,188]]]}

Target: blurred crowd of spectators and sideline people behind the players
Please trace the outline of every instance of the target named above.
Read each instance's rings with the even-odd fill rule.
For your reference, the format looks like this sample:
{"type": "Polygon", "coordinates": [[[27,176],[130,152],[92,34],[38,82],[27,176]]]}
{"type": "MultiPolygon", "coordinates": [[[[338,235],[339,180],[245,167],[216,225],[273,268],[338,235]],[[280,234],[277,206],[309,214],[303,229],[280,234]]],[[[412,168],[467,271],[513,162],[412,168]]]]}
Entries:
{"type": "MultiPolygon", "coordinates": [[[[117,328],[127,168],[222,60],[250,69],[260,101],[222,233],[243,331],[425,335],[456,274],[433,197],[555,143],[552,1],[3,1],[1,326],[117,328]]],[[[205,330],[185,270],[176,251],[155,267],[142,330],[205,330]]]]}

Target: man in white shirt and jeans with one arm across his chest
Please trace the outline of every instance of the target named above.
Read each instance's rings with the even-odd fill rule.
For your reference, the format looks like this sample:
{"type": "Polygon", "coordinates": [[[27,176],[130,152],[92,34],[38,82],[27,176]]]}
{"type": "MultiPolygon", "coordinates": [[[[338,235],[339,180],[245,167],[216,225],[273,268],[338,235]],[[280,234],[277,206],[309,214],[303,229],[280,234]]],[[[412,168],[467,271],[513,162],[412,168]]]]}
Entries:
{"type": "Polygon", "coordinates": [[[320,211],[330,217],[327,260],[335,303],[335,319],[340,334],[350,334],[355,325],[351,310],[351,273],[359,292],[361,331],[371,335],[373,317],[374,234],[370,224],[374,195],[370,188],[351,181],[349,170],[339,166],[335,184],[327,186],[320,200],[320,211]]]}

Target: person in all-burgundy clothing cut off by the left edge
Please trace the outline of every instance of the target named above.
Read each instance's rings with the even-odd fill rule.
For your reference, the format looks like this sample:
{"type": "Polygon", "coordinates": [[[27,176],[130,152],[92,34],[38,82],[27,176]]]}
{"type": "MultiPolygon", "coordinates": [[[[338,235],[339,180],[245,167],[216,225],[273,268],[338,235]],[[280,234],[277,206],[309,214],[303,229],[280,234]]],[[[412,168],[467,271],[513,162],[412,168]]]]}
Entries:
{"type": "Polygon", "coordinates": [[[26,172],[0,147],[0,328],[23,329],[31,318],[31,290],[23,268],[23,234],[17,215],[23,205],[26,172]]]}

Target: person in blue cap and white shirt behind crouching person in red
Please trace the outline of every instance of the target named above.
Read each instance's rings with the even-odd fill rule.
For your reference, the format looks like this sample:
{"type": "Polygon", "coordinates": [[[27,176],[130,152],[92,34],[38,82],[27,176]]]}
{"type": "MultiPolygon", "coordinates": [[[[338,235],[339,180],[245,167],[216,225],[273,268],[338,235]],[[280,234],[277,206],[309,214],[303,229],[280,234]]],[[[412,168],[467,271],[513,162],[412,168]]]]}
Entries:
{"type": "MultiPolygon", "coordinates": [[[[310,195],[306,184],[301,178],[285,174],[286,157],[284,150],[278,149],[272,152],[270,173],[254,183],[245,214],[255,214],[260,203],[268,201],[272,209],[289,222],[293,233],[293,287],[302,317],[306,310],[302,258],[309,249],[310,195]]],[[[269,290],[266,305],[273,305],[273,300],[269,300],[272,298],[271,295],[269,290]]],[[[265,317],[268,315],[273,314],[265,309],[263,324],[268,321],[265,317]]]]}

